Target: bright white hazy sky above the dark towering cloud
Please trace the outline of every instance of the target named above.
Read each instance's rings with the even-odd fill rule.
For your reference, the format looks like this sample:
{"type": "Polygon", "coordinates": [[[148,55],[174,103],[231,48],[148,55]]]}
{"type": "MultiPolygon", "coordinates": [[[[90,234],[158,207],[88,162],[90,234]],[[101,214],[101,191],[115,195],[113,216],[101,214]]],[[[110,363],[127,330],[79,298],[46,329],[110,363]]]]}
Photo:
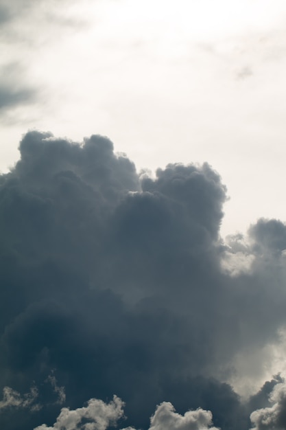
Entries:
{"type": "Polygon", "coordinates": [[[208,161],[230,196],[222,234],[286,220],[285,0],[11,5],[0,87],[36,92],[0,111],[2,171],[29,128],[99,133],[138,169],[208,161]]]}

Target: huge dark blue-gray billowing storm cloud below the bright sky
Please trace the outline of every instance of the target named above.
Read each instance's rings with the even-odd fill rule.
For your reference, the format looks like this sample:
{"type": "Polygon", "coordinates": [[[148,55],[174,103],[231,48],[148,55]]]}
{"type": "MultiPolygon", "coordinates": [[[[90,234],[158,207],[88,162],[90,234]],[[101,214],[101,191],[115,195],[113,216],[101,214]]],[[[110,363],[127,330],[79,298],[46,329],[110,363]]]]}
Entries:
{"type": "Polygon", "coordinates": [[[0,387],[24,398],[35,386],[41,407],[3,408],[2,427],[52,426],[64,401],[116,394],[121,427],[149,428],[163,404],[169,422],[171,405],[201,407],[215,427],[248,429],[265,404],[250,409],[221,375],[285,325],[285,225],[260,220],[248,245],[224,245],[226,188],[206,163],[139,177],[106,137],[38,131],[20,152],[0,177],[0,387]],[[234,275],[222,259],[237,255],[251,267],[234,275]]]}

